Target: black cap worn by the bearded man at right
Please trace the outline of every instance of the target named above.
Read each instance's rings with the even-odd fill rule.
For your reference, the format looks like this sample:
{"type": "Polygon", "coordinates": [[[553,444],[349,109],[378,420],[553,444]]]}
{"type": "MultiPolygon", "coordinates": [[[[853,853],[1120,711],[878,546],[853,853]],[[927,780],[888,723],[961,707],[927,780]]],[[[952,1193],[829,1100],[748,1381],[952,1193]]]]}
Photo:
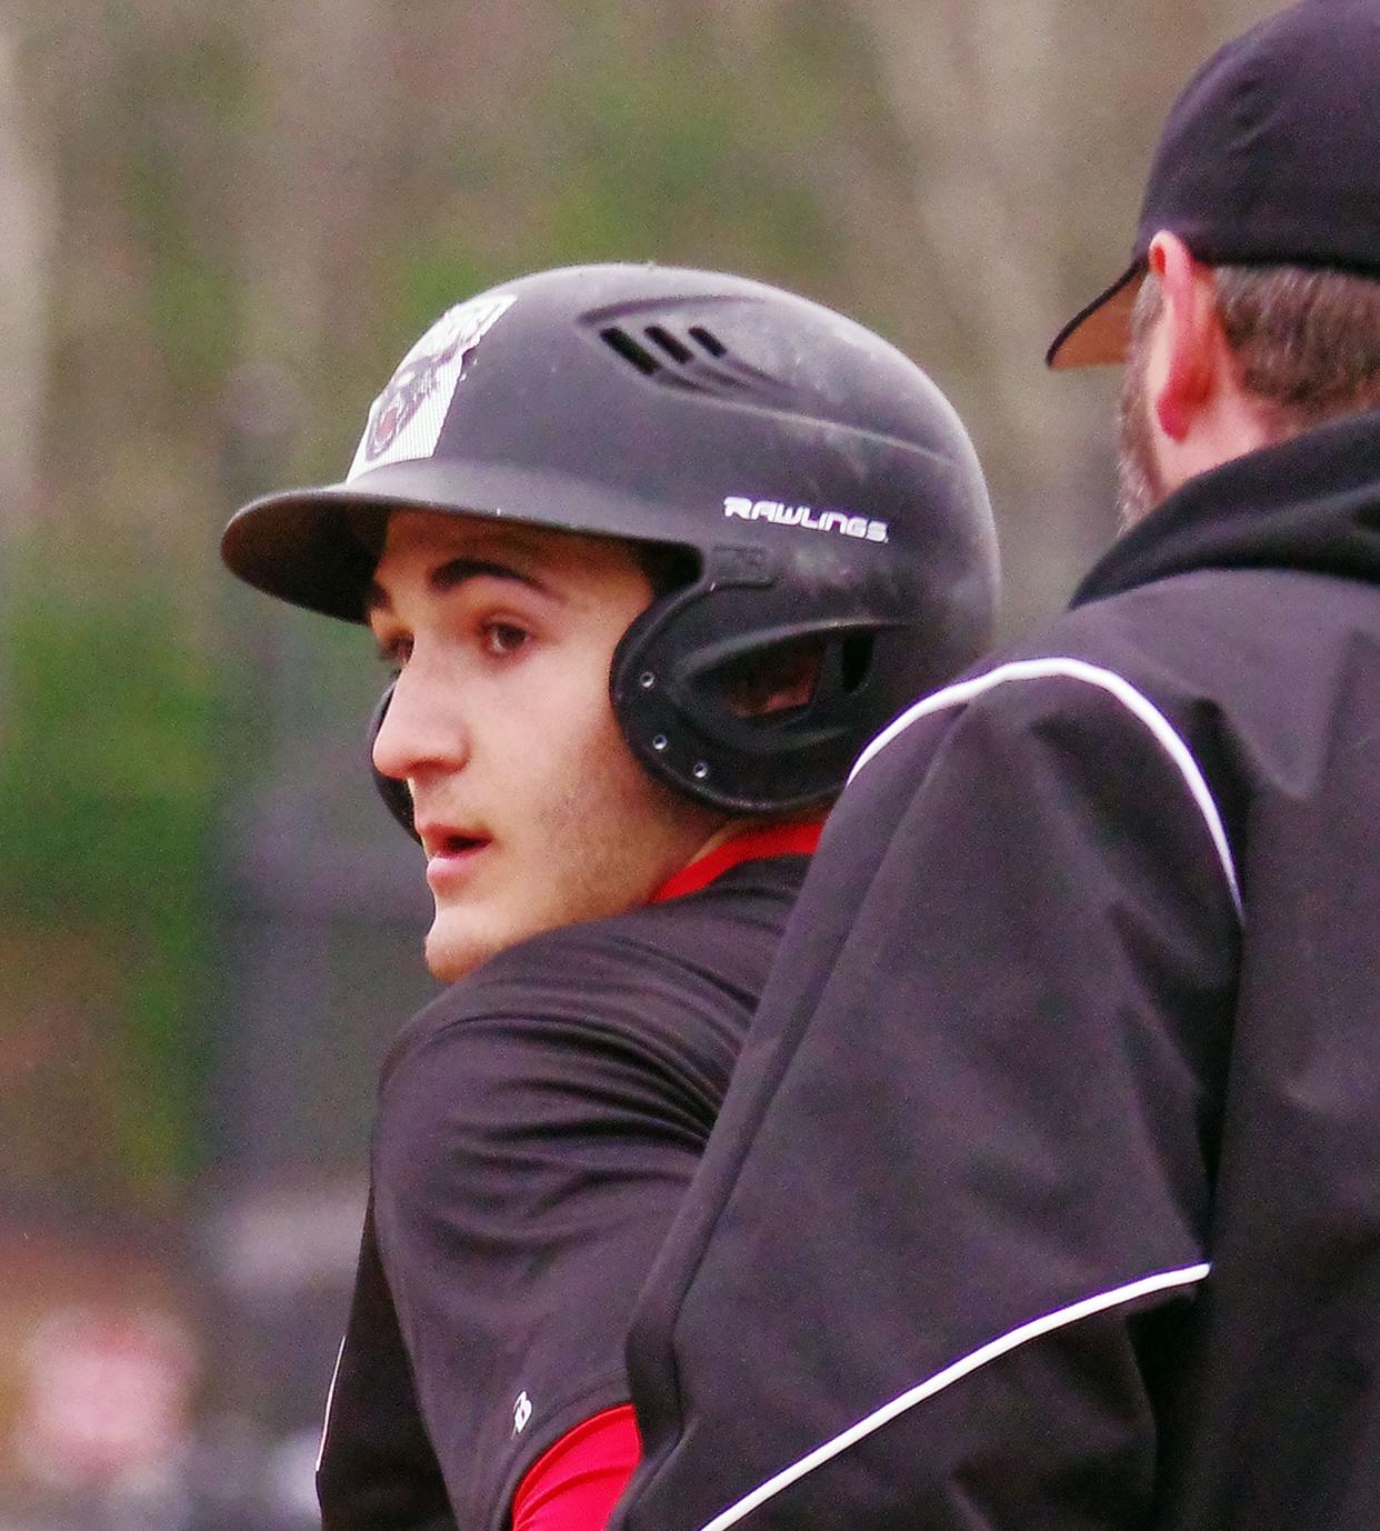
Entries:
{"type": "Polygon", "coordinates": [[[1121,361],[1159,230],[1208,265],[1380,276],[1380,0],[1302,0],[1233,38],[1173,104],[1126,271],[1051,367],[1121,361]]]}

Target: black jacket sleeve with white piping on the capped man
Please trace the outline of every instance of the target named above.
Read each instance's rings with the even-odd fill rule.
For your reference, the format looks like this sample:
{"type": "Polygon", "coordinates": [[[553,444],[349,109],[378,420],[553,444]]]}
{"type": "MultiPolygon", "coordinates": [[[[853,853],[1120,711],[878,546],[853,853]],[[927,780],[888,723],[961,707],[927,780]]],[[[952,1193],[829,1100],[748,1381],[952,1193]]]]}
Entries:
{"type": "Polygon", "coordinates": [[[1153,1523],[1239,954],[1204,787],[1163,717],[1075,678],[862,769],[634,1332],[616,1525],[1153,1523]]]}

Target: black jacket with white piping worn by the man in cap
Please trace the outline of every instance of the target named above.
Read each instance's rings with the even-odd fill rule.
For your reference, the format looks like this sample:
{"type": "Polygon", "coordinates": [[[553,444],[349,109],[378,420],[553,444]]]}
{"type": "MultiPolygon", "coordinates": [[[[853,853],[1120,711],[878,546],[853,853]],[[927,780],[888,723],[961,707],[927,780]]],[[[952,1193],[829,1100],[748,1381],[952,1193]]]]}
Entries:
{"type": "Polygon", "coordinates": [[[1380,1526],[1380,416],[1204,475],[832,816],[622,1531],[1380,1526]]]}

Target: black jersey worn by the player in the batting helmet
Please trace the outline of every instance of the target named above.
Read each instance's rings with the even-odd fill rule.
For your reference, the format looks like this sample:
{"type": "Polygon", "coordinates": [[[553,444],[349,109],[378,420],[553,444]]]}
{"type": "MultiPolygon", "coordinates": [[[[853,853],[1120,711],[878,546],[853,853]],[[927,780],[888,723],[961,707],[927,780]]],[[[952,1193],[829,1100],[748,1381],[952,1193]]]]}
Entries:
{"type": "Polygon", "coordinates": [[[498,1531],[542,1451],[626,1402],[633,1301],[804,867],[746,860],[538,935],[401,1033],[322,1442],[326,1531],[498,1531]]]}

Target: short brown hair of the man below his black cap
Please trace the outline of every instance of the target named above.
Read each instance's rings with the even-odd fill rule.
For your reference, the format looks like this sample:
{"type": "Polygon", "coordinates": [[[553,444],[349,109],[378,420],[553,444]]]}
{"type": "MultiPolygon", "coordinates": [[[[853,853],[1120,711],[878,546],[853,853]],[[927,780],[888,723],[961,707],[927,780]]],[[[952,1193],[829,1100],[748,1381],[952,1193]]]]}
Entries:
{"type": "MultiPolygon", "coordinates": [[[[1218,315],[1277,439],[1339,415],[1380,406],[1380,280],[1305,266],[1213,266],[1218,315]]],[[[1147,276],[1132,334],[1144,340],[1159,311],[1147,276]]]]}

